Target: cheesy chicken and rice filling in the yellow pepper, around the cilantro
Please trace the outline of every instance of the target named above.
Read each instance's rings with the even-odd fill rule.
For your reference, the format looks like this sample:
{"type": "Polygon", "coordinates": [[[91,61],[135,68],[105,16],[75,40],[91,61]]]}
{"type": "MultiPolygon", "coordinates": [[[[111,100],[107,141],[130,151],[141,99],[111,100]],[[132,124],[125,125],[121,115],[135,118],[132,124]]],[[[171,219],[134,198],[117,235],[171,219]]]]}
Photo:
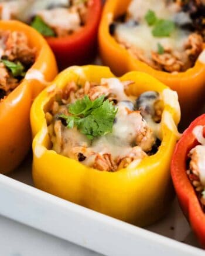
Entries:
{"type": "Polygon", "coordinates": [[[101,84],[87,81],[79,87],[76,82],[69,82],[66,88],[57,92],[45,114],[52,149],[100,171],[117,171],[155,154],[160,141],[151,127],[160,125],[163,107],[159,105],[163,104],[159,104],[157,92],[145,92],[138,99],[127,95],[127,88],[132,83],[109,78],[101,79],[101,84]],[[71,115],[70,104],[85,95],[91,101],[104,95],[117,108],[111,133],[89,139],[77,127],[68,128],[66,121],[59,117],[71,115]]]}

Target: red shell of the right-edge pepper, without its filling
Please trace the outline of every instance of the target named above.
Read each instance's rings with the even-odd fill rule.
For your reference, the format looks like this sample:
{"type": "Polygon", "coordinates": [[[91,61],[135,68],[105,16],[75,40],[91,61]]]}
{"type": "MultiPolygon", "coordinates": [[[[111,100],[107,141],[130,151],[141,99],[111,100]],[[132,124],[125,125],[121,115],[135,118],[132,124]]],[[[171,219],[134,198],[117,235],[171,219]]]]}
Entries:
{"type": "Polygon", "coordinates": [[[172,158],[171,173],[183,213],[187,217],[187,220],[189,220],[200,244],[205,249],[205,214],[186,174],[187,154],[199,144],[192,133],[194,127],[197,125],[205,125],[205,114],[192,122],[177,143],[172,158]]]}

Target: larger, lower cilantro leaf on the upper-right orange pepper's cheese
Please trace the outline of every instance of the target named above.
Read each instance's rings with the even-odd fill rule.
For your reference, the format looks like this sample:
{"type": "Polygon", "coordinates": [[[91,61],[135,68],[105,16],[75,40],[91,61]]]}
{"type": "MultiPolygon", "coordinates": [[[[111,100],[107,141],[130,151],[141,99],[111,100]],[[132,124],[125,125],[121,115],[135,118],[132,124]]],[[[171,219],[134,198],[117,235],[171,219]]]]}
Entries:
{"type": "Polygon", "coordinates": [[[175,23],[165,19],[159,19],[152,29],[152,35],[155,37],[170,36],[175,30],[175,23]]]}

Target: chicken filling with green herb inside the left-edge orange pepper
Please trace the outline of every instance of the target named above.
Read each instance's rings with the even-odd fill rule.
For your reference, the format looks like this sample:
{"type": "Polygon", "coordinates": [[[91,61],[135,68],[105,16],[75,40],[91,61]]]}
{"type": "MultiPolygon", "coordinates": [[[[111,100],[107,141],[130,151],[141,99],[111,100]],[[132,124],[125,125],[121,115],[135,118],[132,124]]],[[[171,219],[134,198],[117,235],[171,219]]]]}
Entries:
{"type": "Polygon", "coordinates": [[[18,87],[35,61],[35,49],[20,31],[0,31],[0,99],[18,87]]]}

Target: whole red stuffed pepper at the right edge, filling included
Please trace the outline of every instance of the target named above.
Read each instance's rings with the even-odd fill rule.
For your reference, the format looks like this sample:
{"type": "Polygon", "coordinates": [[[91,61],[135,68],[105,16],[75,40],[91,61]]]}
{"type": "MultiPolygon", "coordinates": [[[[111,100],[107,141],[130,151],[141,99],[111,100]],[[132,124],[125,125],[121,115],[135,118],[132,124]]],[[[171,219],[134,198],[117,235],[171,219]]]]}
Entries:
{"type": "Polygon", "coordinates": [[[205,248],[205,114],[192,122],[178,142],[171,171],[184,215],[205,248]]]}

